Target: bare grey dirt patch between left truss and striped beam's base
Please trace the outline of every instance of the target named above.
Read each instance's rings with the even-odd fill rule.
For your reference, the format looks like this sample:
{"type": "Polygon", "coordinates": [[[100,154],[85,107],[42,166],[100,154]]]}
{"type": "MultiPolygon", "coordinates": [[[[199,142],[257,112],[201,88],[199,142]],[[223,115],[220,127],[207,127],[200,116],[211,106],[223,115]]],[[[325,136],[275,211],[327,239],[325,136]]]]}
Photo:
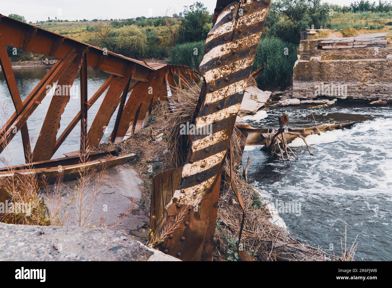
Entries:
{"type": "MultiPolygon", "coordinates": [[[[94,179],[96,177],[97,175],[94,175],[94,179]]],[[[93,185],[95,184],[94,179],[91,182],[93,185]]],[[[62,185],[61,196],[64,197],[62,202],[65,206],[70,199],[68,195],[74,194],[74,187],[78,185],[78,180],[65,182],[62,185]]],[[[91,187],[89,187],[86,193],[85,206],[89,206],[93,199],[93,185],[90,185],[91,187]]],[[[149,222],[149,209],[147,209],[149,207],[149,198],[148,203],[146,203],[144,199],[146,196],[143,195],[143,190],[143,181],[136,175],[136,171],[131,164],[127,163],[107,170],[100,185],[98,199],[94,202],[92,209],[90,217],[91,227],[94,225],[99,227],[100,223],[104,223],[109,227],[118,223],[119,219],[121,219],[115,230],[124,230],[130,236],[134,236],[134,239],[144,242],[148,234],[146,225],[149,222]],[[136,204],[134,204],[134,207],[126,216],[123,216],[129,205],[132,205],[132,201],[136,204]],[[104,220],[98,221],[102,216],[105,217],[104,220]]],[[[78,226],[78,201],[74,200],[71,205],[64,209],[63,214],[65,212],[69,213],[65,225],[78,226]]]]}

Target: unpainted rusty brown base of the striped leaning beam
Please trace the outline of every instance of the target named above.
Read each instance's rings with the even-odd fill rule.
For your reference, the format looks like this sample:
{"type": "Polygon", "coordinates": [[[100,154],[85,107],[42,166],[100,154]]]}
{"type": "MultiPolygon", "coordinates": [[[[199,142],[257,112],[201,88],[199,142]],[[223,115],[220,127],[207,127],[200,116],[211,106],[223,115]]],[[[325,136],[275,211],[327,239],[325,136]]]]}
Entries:
{"type": "MultiPolygon", "coordinates": [[[[170,217],[174,217],[167,216],[165,206],[178,187],[180,178],[181,168],[166,170],[154,176],[150,218],[150,226],[154,231],[160,231],[167,221],[171,221],[170,217]]],[[[183,261],[212,261],[219,190],[220,177],[200,205],[177,206],[178,211],[188,209],[188,212],[180,226],[158,248],[183,261]]]]}

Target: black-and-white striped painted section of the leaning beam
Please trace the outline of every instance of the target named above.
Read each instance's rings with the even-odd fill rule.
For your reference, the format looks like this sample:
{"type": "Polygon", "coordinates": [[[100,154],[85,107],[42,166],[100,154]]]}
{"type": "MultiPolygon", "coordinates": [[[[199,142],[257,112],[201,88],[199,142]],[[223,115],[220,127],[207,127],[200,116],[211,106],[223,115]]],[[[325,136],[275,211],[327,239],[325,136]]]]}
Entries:
{"type": "Polygon", "coordinates": [[[229,139],[240,109],[243,91],[250,76],[269,1],[233,2],[217,17],[207,35],[200,71],[205,78],[205,94],[194,123],[196,129],[212,125],[212,138],[191,136],[191,149],[183,166],[181,185],[170,206],[197,205],[216,181],[217,171],[227,153],[229,139]],[[238,13],[242,9],[243,13],[238,13]],[[222,16],[221,16],[222,15],[222,16]],[[234,116],[234,117],[233,117],[234,116]],[[225,126],[227,125],[227,126],[225,126]],[[218,127],[228,127],[221,132],[218,127]],[[215,135],[218,130],[219,134],[215,135]],[[202,143],[202,144],[201,144],[202,143]]]}

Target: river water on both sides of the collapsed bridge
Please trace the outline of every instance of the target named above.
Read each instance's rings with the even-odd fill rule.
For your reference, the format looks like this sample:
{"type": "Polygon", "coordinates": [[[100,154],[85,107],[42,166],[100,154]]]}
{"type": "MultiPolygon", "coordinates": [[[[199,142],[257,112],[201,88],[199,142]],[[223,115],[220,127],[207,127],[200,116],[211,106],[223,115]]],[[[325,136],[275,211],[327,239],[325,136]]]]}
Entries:
{"type": "MultiPolygon", "coordinates": [[[[22,97],[44,76],[47,69],[14,69],[22,97]]],[[[102,85],[108,74],[89,69],[88,97],[102,85]]],[[[79,89],[79,78],[74,82],[79,89]]],[[[91,125],[103,96],[89,109],[91,125]]],[[[50,94],[38,106],[27,121],[32,145],[42,126],[50,94]]],[[[0,73],[0,104],[7,106],[8,116],[15,111],[11,97],[0,73]]],[[[261,120],[248,120],[254,127],[277,127],[282,112],[289,115],[290,127],[314,126],[312,113],[318,124],[328,121],[363,121],[352,129],[334,130],[312,136],[308,142],[314,147],[310,156],[301,143],[293,143],[292,149],[299,160],[277,163],[260,147],[247,147],[251,156],[248,178],[263,190],[263,196],[276,206],[287,229],[299,239],[332,253],[341,254],[341,239],[347,226],[347,246],[351,246],[358,234],[356,260],[392,260],[392,107],[369,107],[360,103],[338,103],[330,108],[308,109],[297,106],[270,110],[261,120]],[[295,145],[297,144],[297,145],[295,145]],[[298,146],[298,147],[294,147],[298,146]],[[287,209],[284,209],[286,207],[287,209]]],[[[65,108],[58,135],[80,110],[80,98],[72,97],[65,108]]],[[[4,114],[4,113],[2,113],[4,114]]],[[[116,112],[108,125],[103,141],[114,126],[116,112]]],[[[0,115],[0,120],[8,117],[0,115]]],[[[80,125],[76,126],[54,155],[79,149],[80,125]]],[[[23,163],[20,132],[9,144],[2,156],[12,163],[23,163]]]]}

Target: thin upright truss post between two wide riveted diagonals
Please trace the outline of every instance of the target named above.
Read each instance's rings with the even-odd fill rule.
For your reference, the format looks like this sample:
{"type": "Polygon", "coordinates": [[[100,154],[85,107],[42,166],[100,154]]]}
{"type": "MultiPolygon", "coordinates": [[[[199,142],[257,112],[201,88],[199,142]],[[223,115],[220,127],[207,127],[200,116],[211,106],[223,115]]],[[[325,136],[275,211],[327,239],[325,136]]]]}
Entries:
{"type": "Polygon", "coordinates": [[[87,138],[87,53],[83,55],[80,69],[80,150],[87,138]]]}

